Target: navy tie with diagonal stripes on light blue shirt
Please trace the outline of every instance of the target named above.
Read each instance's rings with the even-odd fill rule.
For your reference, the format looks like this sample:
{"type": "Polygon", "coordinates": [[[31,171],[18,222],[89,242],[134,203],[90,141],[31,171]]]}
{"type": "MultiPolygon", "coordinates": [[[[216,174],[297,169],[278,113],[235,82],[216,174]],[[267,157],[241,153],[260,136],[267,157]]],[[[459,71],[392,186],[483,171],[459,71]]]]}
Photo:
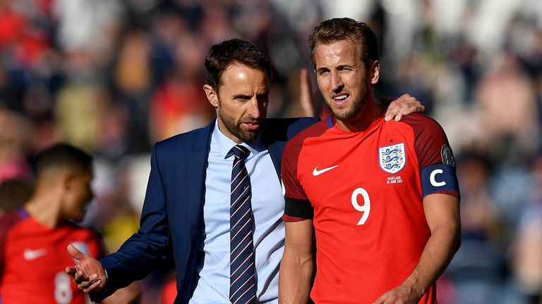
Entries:
{"type": "Polygon", "coordinates": [[[227,157],[235,156],[231,168],[229,300],[233,304],[252,303],[256,298],[252,232],[251,179],[244,159],[248,148],[236,145],[227,157]]]}

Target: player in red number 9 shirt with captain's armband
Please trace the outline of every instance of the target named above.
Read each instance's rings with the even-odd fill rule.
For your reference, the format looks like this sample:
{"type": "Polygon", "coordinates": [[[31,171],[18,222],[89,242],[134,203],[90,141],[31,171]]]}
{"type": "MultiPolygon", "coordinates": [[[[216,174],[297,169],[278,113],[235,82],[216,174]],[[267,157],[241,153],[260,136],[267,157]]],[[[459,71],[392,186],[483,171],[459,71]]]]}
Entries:
{"type": "Polygon", "coordinates": [[[284,150],[279,299],[306,303],[311,292],[315,303],[436,303],[435,281],[460,243],[445,133],[423,115],[384,119],[373,100],[378,46],[365,23],[326,20],[309,44],[333,115],[284,150]]]}

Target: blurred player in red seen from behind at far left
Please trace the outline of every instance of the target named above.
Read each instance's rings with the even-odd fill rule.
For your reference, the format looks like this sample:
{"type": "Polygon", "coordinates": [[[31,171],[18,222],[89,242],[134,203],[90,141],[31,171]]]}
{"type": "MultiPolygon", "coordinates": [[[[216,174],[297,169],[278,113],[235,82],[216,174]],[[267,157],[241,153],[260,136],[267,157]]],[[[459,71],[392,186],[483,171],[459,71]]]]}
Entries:
{"type": "MultiPolygon", "coordinates": [[[[64,269],[73,263],[68,244],[103,256],[100,235],[71,222],[83,218],[92,200],[92,156],[55,144],[37,154],[34,169],[32,196],[0,220],[0,302],[87,303],[64,269]]],[[[124,292],[109,303],[131,303],[137,296],[124,292]]]]}

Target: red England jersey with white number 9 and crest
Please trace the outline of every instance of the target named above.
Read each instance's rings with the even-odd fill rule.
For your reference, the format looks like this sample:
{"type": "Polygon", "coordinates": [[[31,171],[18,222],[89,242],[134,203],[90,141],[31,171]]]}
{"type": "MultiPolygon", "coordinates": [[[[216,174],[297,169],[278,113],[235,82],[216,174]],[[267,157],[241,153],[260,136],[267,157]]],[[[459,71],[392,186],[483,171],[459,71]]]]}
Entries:
{"type": "MultiPolygon", "coordinates": [[[[289,211],[296,204],[313,208],[315,303],[373,303],[402,284],[430,236],[423,196],[459,197],[444,131],[416,114],[378,118],[363,132],[346,132],[334,118],[309,127],[284,150],[282,182],[285,221],[308,218],[289,211]]],[[[435,302],[433,285],[420,303],[435,302]]]]}

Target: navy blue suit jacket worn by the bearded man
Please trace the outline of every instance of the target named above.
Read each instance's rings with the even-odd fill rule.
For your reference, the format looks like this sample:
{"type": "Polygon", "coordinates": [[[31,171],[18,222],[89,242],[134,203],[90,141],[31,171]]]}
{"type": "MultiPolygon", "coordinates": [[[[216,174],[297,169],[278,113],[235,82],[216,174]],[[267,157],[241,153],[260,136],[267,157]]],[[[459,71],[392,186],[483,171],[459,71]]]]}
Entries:
{"type": "MultiPolygon", "coordinates": [[[[279,178],[287,140],[317,121],[317,118],[265,120],[262,140],[279,178]]],[[[143,279],[172,255],[178,291],[175,303],[188,303],[203,229],[205,170],[214,127],[212,122],[155,144],[140,229],[119,251],[100,260],[107,270],[107,288],[92,294],[92,300],[100,301],[116,289],[143,279]]]]}

